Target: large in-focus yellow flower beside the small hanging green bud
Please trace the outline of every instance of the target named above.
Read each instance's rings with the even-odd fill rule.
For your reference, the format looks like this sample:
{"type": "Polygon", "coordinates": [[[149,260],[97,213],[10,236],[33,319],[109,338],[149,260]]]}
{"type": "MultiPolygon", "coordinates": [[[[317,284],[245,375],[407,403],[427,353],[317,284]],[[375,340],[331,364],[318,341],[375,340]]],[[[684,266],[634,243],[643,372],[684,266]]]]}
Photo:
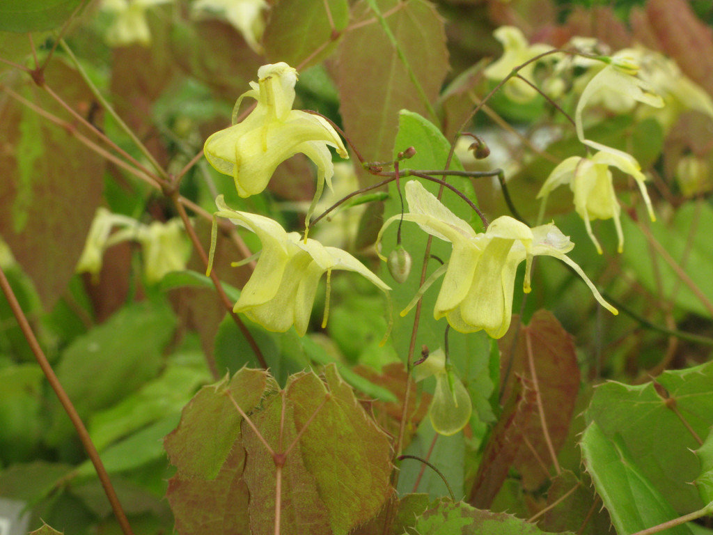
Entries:
{"type": "MultiPolygon", "coordinates": [[[[555,225],[529,228],[503,215],[488,225],[486,232],[476,233],[471,225],[454,215],[420,183],[411,180],[405,189],[409,213],[404,214],[404,220],[418,223],[426,233],[453,244],[451,258],[442,266],[446,274],[434,308],[436,320],[446,317],[458,332],[485,330],[493,338],[502,337],[510,327],[517,267],[526,261],[523,290],[529,292],[531,263],[538,255],[559,258],[572,267],[590,287],[597,301],[610,312],[617,313],[579,265],[567,257],[574,244],[555,225]]],[[[377,243],[380,243],[384,230],[400,217],[396,215],[384,223],[377,243]]],[[[432,282],[429,280],[426,284],[432,282]]],[[[411,305],[401,315],[408,312],[411,305]]]]}

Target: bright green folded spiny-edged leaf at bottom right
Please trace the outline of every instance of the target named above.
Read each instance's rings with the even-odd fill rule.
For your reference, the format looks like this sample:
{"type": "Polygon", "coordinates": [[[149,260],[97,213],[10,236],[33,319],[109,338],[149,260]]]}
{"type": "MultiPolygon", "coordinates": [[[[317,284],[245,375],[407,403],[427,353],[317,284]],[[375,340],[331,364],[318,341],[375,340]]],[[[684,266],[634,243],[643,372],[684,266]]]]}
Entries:
{"type": "MultiPolygon", "coordinates": [[[[634,420],[635,416],[630,417],[630,421],[634,420]]],[[[661,436],[670,437],[666,434],[661,436]]],[[[617,533],[634,533],[678,516],[637,465],[622,437],[607,437],[597,422],[592,422],[585,429],[581,447],[587,471],[617,533]]],[[[684,525],[666,532],[670,535],[691,535],[684,525]]]]}

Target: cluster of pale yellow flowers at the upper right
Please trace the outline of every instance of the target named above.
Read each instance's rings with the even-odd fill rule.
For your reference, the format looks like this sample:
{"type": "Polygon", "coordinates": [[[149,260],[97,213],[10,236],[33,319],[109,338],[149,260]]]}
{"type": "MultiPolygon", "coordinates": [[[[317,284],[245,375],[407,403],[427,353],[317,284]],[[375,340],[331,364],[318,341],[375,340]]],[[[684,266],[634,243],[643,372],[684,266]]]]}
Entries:
{"type": "MultiPolygon", "coordinates": [[[[528,45],[523,34],[514,28],[504,26],[496,30],[496,39],[504,46],[503,56],[486,68],[488,78],[504,78],[511,74],[513,68],[531,61],[547,50],[546,47],[528,45]]],[[[577,41],[582,44],[581,40],[577,41]]],[[[587,46],[593,43],[587,43],[587,46]]],[[[531,78],[534,63],[528,63],[520,68],[520,76],[531,78]]],[[[665,61],[662,56],[648,53],[642,49],[627,49],[607,56],[575,56],[560,61],[553,71],[562,71],[565,65],[576,65],[585,68],[585,74],[580,76],[586,85],[575,108],[575,130],[579,140],[597,151],[594,156],[573,156],[565,159],[550,173],[543,184],[538,198],[544,203],[550,192],[559,185],[569,184],[574,194],[574,204],[577,213],[584,220],[587,233],[595,244],[597,251],[602,253],[597,238],[593,234],[590,221],[595,219],[613,219],[619,238],[618,250],[622,251],[624,237],[620,224],[620,205],[617,201],[610,167],[622,170],[632,176],[639,186],[645,200],[651,220],[655,220],[652,203],[645,186],[645,175],[641,172],[639,163],[629,154],[616,148],[593,141],[585,136],[584,111],[588,104],[604,103],[617,109],[630,110],[635,103],[645,103],[651,108],[662,108],[666,96],[668,102],[689,102],[690,108],[704,111],[713,116],[713,103],[704,91],[684,76],[676,72],[674,63],[665,61]],[[603,65],[603,66],[602,66],[603,65]],[[642,65],[645,66],[642,68],[642,65]],[[667,72],[667,75],[663,73],[667,72]]],[[[511,100],[527,102],[535,97],[535,90],[520,79],[511,79],[505,86],[505,94],[511,100]],[[515,86],[514,83],[520,85],[515,86]],[[511,85],[508,85],[511,84],[511,85]],[[519,88],[514,91],[514,88],[519,88]]],[[[576,84],[575,84],[576,85],[576,84]]],[[[685,106],[685,104],[679,104],[685,106]]],[[[670,126],[668,115],[658,116],[663,126],[670,126]]]]}

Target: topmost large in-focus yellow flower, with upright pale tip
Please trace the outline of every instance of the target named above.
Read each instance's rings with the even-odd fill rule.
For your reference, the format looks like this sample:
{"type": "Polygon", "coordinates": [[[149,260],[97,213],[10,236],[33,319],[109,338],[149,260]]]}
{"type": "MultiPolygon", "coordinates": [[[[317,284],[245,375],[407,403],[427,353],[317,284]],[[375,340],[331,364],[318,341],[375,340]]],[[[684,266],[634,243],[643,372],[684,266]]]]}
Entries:
{"type": "Polygon", "coordinates": [[[218,131],[205,141],[203,151],[215,169],[235,179],[237,193],[249,197],[262,192],[277,165],[297,153],[303,153],[317,165],[317,194],[324,182],[331,187],[334,174],[332,154],[327,146],[337,149],[343,158],[347,150],[334,128],[324,118],[293,110],[294,84],[297,71],[287,63],[263,65],[258,69],[257,83],[242,93],[233,110],[233,126],[218,131]],[[255,98],[257,106],[244,121],[236,124],[240,103],[245,97],[255,98]]]}

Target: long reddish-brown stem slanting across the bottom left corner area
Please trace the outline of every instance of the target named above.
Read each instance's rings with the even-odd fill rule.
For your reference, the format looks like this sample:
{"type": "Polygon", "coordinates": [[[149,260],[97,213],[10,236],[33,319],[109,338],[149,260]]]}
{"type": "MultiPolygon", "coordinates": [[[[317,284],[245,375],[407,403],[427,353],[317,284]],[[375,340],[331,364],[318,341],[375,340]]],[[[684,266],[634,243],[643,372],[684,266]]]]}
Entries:
{"type": "Polygon", "coordinates": [[[96,451],[96,447],[94,447],[94,444],[91,441],[91,437],[89,436],[89,433],[86,427],[84,426],[84,423],[79,417],[79,414],[74,408],[71,399],[69,399],[67,393],[62,387],[62,384],[59,382],[59,379],[54,373],[54,370],[52,370],[52,367],[48,362],[47,357],[45,356],[42,348],[39,345],[39,342],[37,341],[37,338],[35,337],[32,327],[27,321],[27,317],[25,316],[22,307],[20,306],[19,302],[17,301],[17,298],[15,297],[15,293],[13,292],[9,281],[5,277],[5,272],[2,270],[2,267],[0,267],[0,287],[2,288],[7,302],[10,305],[10,308],[17,320],[18,325],[20,326],[20,329],[22,330],[22,334],[24,335],[25,339],[27,340],[27,343],[30,346],[30,349],[35,355],[37,363],[44,372],[45,377],[47,377],[47,381],[54,390],[55,394],[57,395],[57,398],[59,399],[59,402],[62,404],[62,407],[64,408],[69,419],[71,420],[74,429],[76,429],[79,439],[89,456],[89,459],[91,459],[91,462],[94,465],[94,469],[96,470],[96,474],[99,477],[99,481],[101,481],[101,486],[103,486],[106,497],[109,500],[109,504],[111,504],[111,509],[114,511],[114,515],[116,516],[116,519],[118,520],[119,525],[121,526],[121,531],[123,531],[124,535],[133,535],[133,531],[131,530],[129,521],[126,518],[126,514],[124,513],[124,510],[119,502],[118,497],[116,496],[116,491],[114,490],[114,487],[111,484],[109,474],[106,472],[106,469],[104,468],[104,465],[101,462],[101,458],[99,457],[99,454],[96,451]]]}

